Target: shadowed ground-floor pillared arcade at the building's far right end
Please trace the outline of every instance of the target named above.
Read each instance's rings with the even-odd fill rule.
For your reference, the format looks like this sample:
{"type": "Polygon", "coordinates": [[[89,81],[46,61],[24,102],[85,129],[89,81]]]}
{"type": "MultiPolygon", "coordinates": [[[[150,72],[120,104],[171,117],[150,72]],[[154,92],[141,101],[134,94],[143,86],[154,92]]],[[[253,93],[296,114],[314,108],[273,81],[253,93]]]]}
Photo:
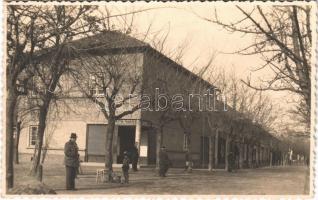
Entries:
{"type": "Polygon", "coordinates": [[[237,139],[217,130],[216,134],[209,138],[209,170],[218,168],[227,170],[230,162],[227,155],[230,152],[234,157],[235,169],[286,165],[288,150],[278,148],[277,144],[273,145],[271,139],[264,142],[262,139],[258,141],[244,137],[237,139]]]}

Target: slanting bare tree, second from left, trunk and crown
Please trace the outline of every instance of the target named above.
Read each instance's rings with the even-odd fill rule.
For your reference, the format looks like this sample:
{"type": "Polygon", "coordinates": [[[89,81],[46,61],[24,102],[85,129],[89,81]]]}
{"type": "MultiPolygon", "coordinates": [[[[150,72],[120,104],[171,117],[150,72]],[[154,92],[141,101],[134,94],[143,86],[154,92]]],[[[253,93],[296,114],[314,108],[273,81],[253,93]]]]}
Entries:
{"type": "MultiPolygon", "coordinates": [[[[59,89],[61,76],[69,71],[70,50],[67,43],[74,37],[83,37],[96,30],[95,18],[89,14],[94,7],[41,7],[37,9],[40,18],[38,23],[45,23],[42,27],[42,35],[49,37],[48,50],[44,48],[39,51],[40,62],[34,63],[29,70],[32,74],[32,82],[29,82],[30,90],[35,96],[34,101],[38,105],[39,128],[38,137],[33,158],[31,173],[35,175],[41,160],[44,132],[47,124],[47,115],[52,101],[57,100],[62,94],[59,89]],[[93,18],[93,19],[92,19],[93,18]],[[47,36],[49,34],[49,36],[47,36]]],[[[35,29],[37,30],[37,29],[35,29]]],[[[40,35],[40,36],[42,36],[40,35]]],[[[44,37],[42,36],[42,37],[44,37]]]]}

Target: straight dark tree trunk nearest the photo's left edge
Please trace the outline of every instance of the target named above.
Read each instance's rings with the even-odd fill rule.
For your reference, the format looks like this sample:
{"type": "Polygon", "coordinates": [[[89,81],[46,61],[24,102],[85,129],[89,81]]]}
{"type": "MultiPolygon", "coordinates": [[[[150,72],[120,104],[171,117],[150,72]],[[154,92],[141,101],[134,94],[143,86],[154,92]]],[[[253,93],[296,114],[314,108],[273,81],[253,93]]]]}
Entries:
{"type": "MultiPolygon", "coordinates": [[[[8,78],[8,77],[7,77],[8,78]]],[[[9,85],[7,85],[9,87],[9,85]]],[[[6,99],[6,189],[13,187],[14,182],[14,169],[13,169],[13,156],[14,156],[14,139],[13,139],[13,125],[14,125],[14,112],[17,103],[17,95],[14,88],[7,89],[6,99]]]]}

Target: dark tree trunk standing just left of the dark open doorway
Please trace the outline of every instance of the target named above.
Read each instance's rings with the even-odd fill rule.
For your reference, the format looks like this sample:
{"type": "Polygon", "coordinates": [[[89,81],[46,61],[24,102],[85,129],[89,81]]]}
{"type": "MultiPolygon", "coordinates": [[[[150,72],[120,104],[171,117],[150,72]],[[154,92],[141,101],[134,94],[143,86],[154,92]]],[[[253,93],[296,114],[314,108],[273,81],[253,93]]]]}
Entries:
{"type": "Polygon", "coordinates": [[[105,169],[108,172],[108,181],[112,180],[113,172],[113,136],[115,130],[115,117],[110,115],[108,118],[106,145],[105,145],[105,169]]]}

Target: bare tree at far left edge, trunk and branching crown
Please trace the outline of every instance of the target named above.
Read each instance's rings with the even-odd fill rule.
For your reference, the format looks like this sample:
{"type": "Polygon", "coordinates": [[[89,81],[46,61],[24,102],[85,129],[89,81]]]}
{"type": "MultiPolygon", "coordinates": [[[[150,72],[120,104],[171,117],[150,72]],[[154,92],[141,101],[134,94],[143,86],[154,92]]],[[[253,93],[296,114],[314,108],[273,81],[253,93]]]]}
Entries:
{"type": "Polygon", "coordinates": [[[13,187],[13,127],[14,111],[20,94],[18,76],[31,62],[34,55],[34,21],[36,16],[23,15],[29,13],[28,7],[8,7],[7,33],[7,68],[6,68],[6,188],[13,187]]]}

